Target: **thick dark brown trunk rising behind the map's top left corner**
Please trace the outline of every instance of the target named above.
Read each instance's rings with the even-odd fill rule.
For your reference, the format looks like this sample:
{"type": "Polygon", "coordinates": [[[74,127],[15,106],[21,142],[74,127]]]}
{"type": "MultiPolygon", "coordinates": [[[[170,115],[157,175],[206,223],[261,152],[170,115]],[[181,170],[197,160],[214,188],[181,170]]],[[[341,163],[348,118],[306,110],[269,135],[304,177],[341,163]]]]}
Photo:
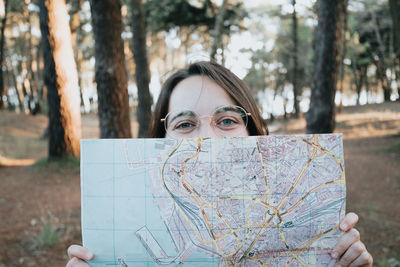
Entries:
{"type": "Polygon", "coordinates": [[[119,0],[90,0],[101,138],[130,138],[128,86],[119,0]]]}

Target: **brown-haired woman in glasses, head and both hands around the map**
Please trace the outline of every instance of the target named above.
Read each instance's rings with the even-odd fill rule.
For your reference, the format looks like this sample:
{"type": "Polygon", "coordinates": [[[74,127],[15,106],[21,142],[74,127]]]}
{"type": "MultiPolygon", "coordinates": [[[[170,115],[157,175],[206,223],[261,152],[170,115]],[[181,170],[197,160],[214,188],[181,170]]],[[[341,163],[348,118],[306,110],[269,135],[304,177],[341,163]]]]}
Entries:
{"type": "MultiPolygon", "coordinates": [[[[164,84],[149,137],[226,137],[267,135],[268,129],[246,84],[225,67],[197,62],[174,73],[164,84]]],[[[372,266],[372,256],[354,228],[358,216],[348,213],[344,232],[331,256],[337,266],[372,266]]],[[[67,266],[89,266],[94,255],[86,248],[68,248],[67,266]]]]}

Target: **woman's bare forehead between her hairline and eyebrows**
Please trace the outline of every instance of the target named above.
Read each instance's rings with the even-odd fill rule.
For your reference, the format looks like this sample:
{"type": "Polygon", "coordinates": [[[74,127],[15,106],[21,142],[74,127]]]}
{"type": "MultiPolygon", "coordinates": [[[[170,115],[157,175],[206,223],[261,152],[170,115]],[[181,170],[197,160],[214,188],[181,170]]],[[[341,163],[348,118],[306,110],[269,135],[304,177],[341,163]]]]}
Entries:
{"type": "Polygon", "coordinates": [[[225,105],[235,105],[235,102],[217,83],[205,76],[191,76],[173,89],[168,112],[188,109],[208,115],[225,105]]]}

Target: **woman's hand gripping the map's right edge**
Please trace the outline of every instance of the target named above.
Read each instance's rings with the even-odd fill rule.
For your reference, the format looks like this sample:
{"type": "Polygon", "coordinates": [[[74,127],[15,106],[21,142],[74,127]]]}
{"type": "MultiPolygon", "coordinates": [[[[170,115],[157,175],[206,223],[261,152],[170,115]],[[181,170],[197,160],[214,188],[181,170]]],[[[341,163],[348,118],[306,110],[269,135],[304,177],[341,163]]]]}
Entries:
{"type": "Polygon", "coordinates": [[[340,230],[344,232],[331,256],[337,259],[336,267],[372,266],[372,256],[360,240],[360,232],[353,228],[358,222],[355,213],[348,213],[340,223],[340,230]]]}

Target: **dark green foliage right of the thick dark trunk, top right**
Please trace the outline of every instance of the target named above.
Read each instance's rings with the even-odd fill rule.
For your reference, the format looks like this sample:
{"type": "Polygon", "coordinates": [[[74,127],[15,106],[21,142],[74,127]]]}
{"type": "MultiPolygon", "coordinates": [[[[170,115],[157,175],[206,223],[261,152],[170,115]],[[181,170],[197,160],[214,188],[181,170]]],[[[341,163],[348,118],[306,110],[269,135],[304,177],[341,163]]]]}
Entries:
{"type": "MultiPolygon", "coordinates": [[[[351,2],[348,16],[347,53],[345,58],[351,61],[349,67],[353,73],[357,93],[362,86],[380,82],[384,89],[385,101],[390,99],[393,75],[387,70],[395,67],[393,53],[393,26],[388,3],[386,1],[351,2]],[[375,66],[375,75],[368,75],[369,66],[375,66]],[[369,77],[371,76],[371,77],[369,77]]],[[[393,71],[392,71],[393,73],[393,71]]]]}

